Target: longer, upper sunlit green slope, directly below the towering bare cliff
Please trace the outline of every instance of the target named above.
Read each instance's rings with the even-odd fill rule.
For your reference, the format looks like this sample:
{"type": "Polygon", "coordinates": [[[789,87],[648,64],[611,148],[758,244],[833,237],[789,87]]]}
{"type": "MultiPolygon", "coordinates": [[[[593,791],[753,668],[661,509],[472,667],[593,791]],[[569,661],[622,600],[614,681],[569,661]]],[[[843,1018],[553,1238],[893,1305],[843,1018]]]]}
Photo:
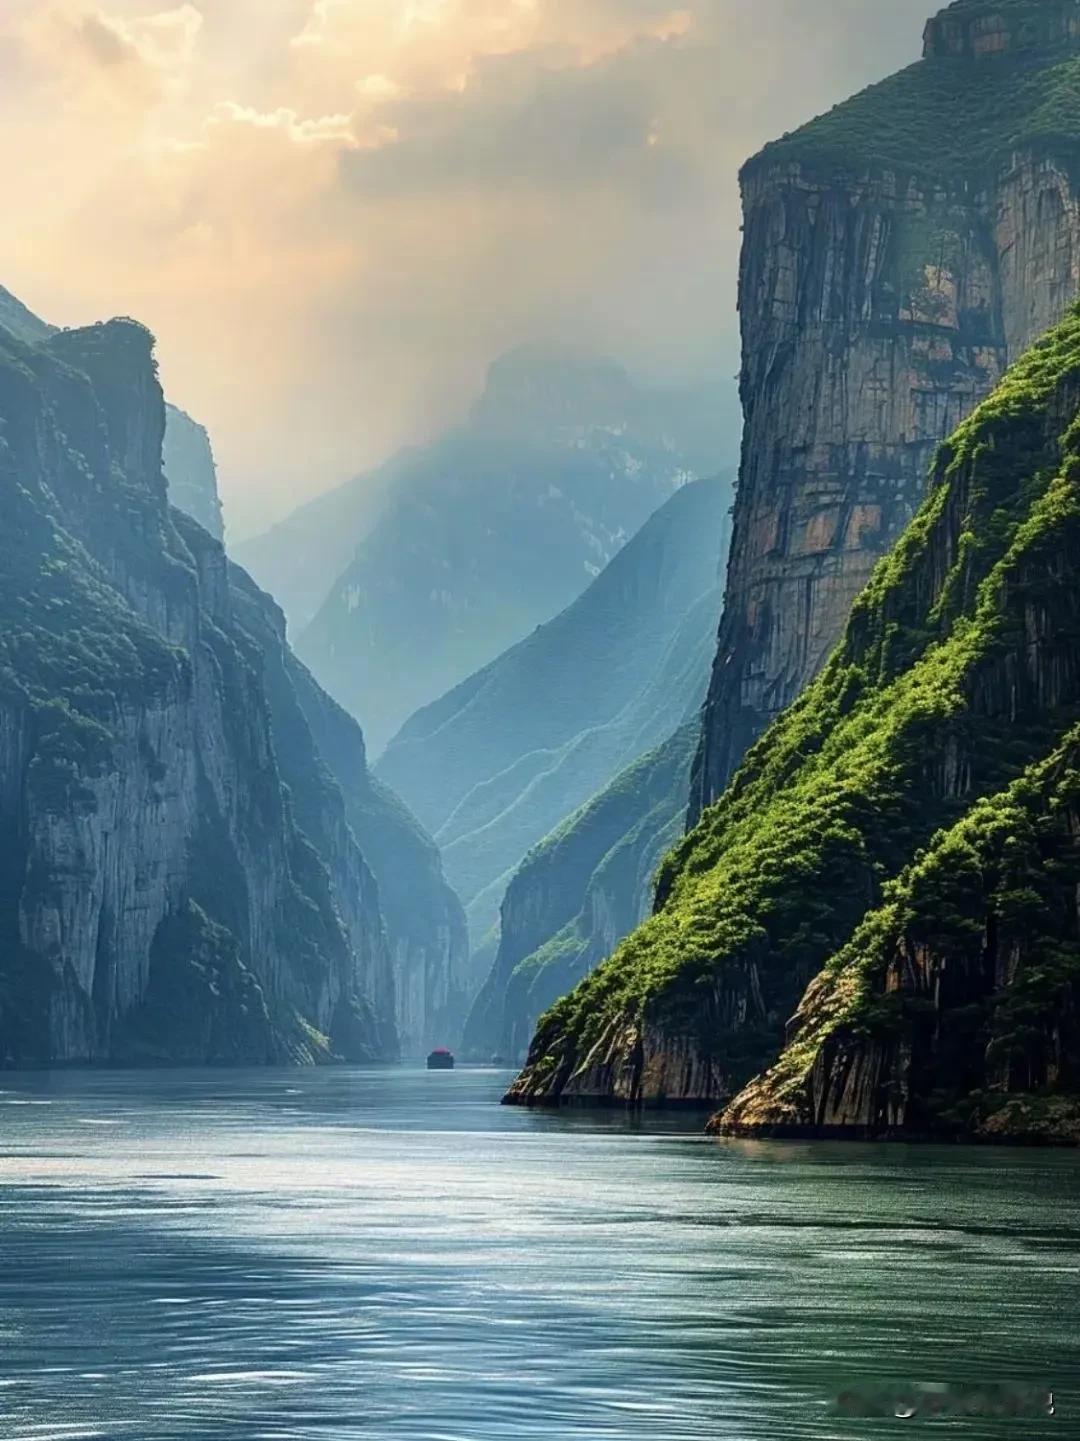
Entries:
{"type": "MultiPolygon", "coordinates": [[[[731,1094],[888,883],[1061,744],[1080,716],[1079,405],[1073,313],[943,447],[825,672],[669,856],[658,914],[544,1019],[513,1099],[611,1095],[616,1076],[672,1098],[670,1072],[652,1078],[681,1048],[731,1094]]],[[[1038,1004],[1061,1007],[1067,978],[1032,965],[1038,1004]]]]}

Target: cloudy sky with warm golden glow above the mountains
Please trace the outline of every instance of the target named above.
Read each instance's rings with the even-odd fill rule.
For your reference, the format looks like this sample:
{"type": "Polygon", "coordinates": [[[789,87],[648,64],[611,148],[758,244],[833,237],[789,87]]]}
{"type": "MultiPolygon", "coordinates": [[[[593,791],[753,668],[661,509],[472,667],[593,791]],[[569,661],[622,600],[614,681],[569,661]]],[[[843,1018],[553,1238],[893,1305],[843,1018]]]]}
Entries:
{"type": "Polygon", "coordinates": [[[149,324],[254,533],[522,342],[734,375],[740,164],[914,61],[931,9],[0,0],[0,284],[149,324]]]}

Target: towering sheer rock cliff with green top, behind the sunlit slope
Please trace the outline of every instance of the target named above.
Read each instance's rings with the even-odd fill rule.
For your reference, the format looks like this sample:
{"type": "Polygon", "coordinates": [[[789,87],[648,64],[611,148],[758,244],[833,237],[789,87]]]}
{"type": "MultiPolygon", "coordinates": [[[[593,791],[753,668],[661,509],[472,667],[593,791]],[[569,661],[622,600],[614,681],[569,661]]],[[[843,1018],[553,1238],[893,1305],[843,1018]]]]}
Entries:
{"type": "Polygon", "coordinates": [[[803,690],[934,448],[1080,275],[1080,4],[962,0],[744,169],[743,467],[692,818],[803,690]]]}

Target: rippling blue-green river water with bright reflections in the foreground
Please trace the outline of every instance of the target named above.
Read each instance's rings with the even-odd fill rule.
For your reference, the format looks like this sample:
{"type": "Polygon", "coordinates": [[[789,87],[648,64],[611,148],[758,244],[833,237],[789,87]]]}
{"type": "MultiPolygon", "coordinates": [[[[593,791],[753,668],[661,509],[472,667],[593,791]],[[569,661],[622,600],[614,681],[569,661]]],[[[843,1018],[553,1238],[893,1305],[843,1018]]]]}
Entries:
{"type": "Polygon", "coordinates": [[[0,1075],[3,1441],[1080,1435],[1076,1153],[715,1143],[506,1079],[0,1075]],[[1058,1417],[832,1408],[907,1380],[1058,1417]]]}

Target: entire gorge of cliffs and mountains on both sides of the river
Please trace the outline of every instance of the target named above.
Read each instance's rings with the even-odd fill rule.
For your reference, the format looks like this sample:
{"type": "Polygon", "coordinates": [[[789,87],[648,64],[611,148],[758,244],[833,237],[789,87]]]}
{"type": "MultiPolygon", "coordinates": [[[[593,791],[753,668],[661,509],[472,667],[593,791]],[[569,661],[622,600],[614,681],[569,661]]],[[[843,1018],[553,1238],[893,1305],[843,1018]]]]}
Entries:
{"type": "Polygon", "coordinates": [[[9,1059],[538,1026],[510,1099],[1067,1133],[1077,9],[957,0],[745,164],[722,607],[707,388],[523,346],[459,431],[241,548],[313,673],[147,333],[0,293],[9,1059]],[[970,954],[939,847],[981,857],[934,892],[970,954]]]}

